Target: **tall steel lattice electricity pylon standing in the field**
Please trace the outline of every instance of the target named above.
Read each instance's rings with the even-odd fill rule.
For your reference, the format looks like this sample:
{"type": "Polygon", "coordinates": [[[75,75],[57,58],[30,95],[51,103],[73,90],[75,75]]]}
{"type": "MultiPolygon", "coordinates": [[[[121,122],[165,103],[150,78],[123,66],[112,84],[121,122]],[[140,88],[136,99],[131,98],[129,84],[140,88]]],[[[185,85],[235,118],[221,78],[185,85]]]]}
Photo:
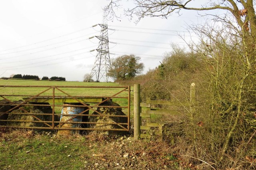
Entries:
{"type": "Polygon", "coordinates": [[[94,66],[92,67],[92,71],[87,81],[89,81],[89,79],[96,75],[97,82],[99,82],[102,78],[104,79],[104,81],[108,82],[107,73],[108,70],[111,68],[111,63],[108,46],[108,24],[106,20],[106,15],[104,15],[103,23],[104,24],[98,24],[101,27],[100,36],[95,37],[98,38],[100,42],[98,48],[96,49],[97,55],[94,62],[94,66]]]}

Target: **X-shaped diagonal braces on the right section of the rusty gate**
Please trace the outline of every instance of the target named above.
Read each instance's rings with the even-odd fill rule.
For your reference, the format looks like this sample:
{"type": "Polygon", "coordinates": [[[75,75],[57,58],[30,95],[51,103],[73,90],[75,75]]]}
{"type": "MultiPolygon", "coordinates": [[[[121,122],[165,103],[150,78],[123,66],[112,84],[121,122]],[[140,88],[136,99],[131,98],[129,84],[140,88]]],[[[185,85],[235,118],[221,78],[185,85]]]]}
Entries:
{"type": "MultiPolygon", "coordinates": [[[[102,117],[104,117],[104,115],[102,115],[102,113],[98,112],[97,110],[93,109],[93,107],[94,107],[94,106],[98,106],[98,105],[100,105],[101,103],[104,103],[105,101],[108,101],[109,99],[111,99],[111,97],[115,97],[116,95],[118,95],[118,94],[120,94],[120,93],[122,93],[123,91],[126,90],[126,88],[125,88],[125,89],[123,89],[122,91],[120,91],[120,92],[118,92],[118,93],[112,95],[110,98],[106,98],[105,100],[101,101],[100,103],[97,103],[97,104],[94,105],[94,106],[88,106],[88,105],[86,105],[85,103],[82,103],[80,100],[76,99],[75,97],[72,97],[72,96],[69,95],[68,93],[62,91],[61,89],[59,89],[59,88],[57,88],[57,87],[56,87],[56,89],[58,89],[59,91],[61,91],[61,92],[64,93],[65,95],[68,95],[68,96],[71,97],[72,99],[78,101],[78,102],[81,103],[82,105],[84,105],[84,106],[86,106],[86,107],[89,108],[89,109],[86,109],[85,111],[83,111],[83,112],[81,112],[81,113],[78,113],[78,115],[82,115],[82,114],[85,113],[86,111],[92,109],[93,111],[95,111],[96,113],[98,113],[98,114],[99,114],[100,116],[102,116],[102,117]]],[[[72,118],[66,120],[65,122],[68,122],[68,121],[70,121],[70,120],[72,120],[72,119],[74,119],[74,118],[76,118],[76,117],[77,117],[77,116],[74,116],[74,117],[72,117],[72,118]]],[[[125,129],[125,130],[127,130],[127,128],[123,127],[123,126],[120,125],[119,123],[116,123],[116,122],[113,121],[112,119],[110,119],[110,118],[108,118],[108,117],[106,117],[106,119],[108,119],[109,121],[112,121],[115,125],[118,125],[119,127],[123,128],[123,129],[125,129]]],[[[59,127],[60,125],[63,125],[63,123],[57,125],[56,127],[59,127]]]]}

